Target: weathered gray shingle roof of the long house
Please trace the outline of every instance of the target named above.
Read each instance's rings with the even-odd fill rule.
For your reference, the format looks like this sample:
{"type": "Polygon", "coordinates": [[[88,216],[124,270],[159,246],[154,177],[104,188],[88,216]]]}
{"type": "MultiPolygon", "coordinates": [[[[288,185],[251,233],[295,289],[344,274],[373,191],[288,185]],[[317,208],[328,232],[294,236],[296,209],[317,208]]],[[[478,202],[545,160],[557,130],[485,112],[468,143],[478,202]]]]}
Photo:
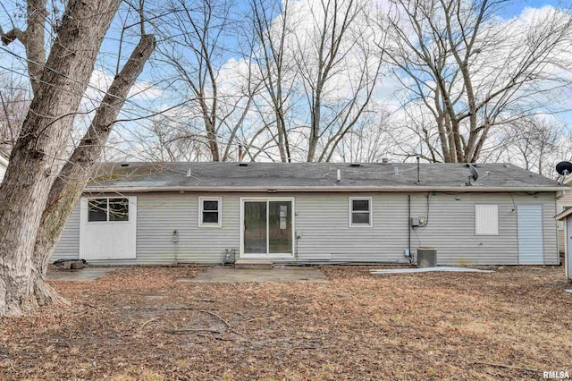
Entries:
{"type": "Polygon", "coordinates": [[[105,163],[88,191],[116,190],[565,190],[516,165],[477,164],[480,178],[467,186],[464,164],[415,163],[105,163]],[[341,182],[336,182],[337,170],[341,182]],[[188,173],[190,171],[190,173],[188,173]],[[488,174],[488,175],[487,175],[488,174]]]}

